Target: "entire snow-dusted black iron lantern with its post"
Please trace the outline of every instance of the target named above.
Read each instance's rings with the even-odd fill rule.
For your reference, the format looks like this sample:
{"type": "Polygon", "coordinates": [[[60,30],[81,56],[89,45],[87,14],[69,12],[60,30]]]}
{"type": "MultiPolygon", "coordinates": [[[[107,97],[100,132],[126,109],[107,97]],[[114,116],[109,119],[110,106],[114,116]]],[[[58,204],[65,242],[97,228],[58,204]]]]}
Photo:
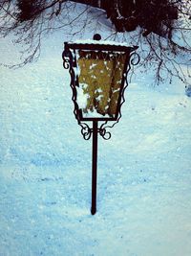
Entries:
{"type": "MultiPolygon", "coordinates": [[[[100,35],[94,38],[100,39],[100,35]]],[[[92,208],[96,213],[97,133],[110,139],[112,128],[121,117],[124,90],[131,64],[138,64],[137,46],[102,40],[65,42],[63,66],[69,69],[73,89],[74,116],[84,139],[93,134],[92,208]],[[93,126],[87,124],[92,122],[93,126]],[[113,121],[113,126],[107,124],[113,121]],[[101,125],[98,128],[98,122],[101,125]]]]}

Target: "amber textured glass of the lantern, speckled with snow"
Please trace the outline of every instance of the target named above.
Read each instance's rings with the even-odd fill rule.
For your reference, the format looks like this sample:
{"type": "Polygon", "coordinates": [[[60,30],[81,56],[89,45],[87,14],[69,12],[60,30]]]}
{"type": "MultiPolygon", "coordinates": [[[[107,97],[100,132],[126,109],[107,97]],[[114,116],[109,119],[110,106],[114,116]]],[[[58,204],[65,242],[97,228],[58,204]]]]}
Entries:
{"type": "Polygon", "coordinates": [[[78,50],[76,102],[81,118],[116,118],[125,52],[78,50]]]}

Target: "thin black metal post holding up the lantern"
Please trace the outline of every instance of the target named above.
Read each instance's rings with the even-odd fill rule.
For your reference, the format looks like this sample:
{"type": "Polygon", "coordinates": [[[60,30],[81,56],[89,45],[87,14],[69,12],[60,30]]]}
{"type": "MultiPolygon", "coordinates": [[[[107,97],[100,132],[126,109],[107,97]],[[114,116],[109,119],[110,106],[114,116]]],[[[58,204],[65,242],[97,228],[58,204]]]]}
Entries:
{"type": "Polygon", "coordinates": [[[97,121],[93,121],[92,215],[96,214],[97,121]]]}

